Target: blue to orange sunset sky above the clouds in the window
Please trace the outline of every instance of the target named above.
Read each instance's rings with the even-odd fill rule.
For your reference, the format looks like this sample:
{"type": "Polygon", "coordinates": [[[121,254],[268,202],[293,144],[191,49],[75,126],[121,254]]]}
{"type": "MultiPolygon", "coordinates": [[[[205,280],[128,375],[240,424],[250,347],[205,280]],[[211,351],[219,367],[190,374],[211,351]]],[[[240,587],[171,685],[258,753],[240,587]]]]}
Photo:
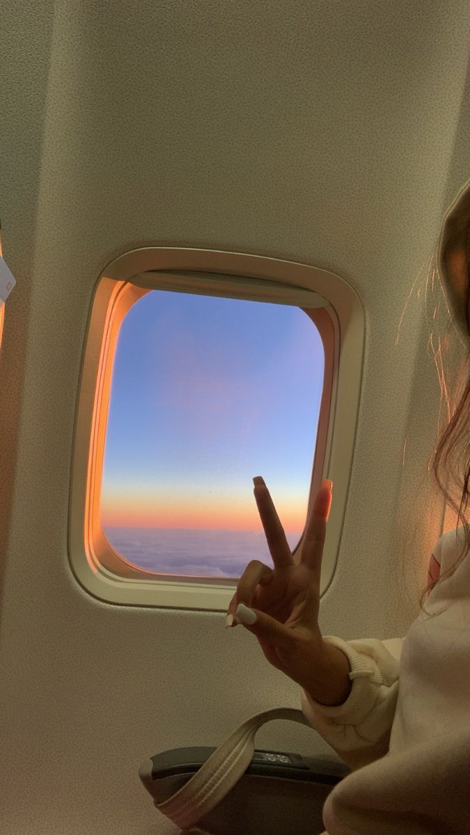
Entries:
{"type": "Polygon", "coordinates": [[[104,527],[258,531],[253,476],[304,528],[324,352],[298,307],[151,291],[125,316],[104,527]]]}

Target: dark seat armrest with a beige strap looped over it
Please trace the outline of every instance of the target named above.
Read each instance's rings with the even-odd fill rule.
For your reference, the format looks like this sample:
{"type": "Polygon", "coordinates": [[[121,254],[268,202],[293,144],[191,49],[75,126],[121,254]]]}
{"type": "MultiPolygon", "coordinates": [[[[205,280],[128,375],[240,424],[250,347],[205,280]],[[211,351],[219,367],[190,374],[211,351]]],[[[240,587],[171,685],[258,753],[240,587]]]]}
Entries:
{"type": "Polygon", "coordinates": [[[278,718],[308,724],[301,711],[278,708],[243,722],[217,749],[175,748],[143,762],[140,780],[156,809],[186,832],[324,832],[324,802],[350,769],[339,757],[255,750],[258,727],[278,718]]]}

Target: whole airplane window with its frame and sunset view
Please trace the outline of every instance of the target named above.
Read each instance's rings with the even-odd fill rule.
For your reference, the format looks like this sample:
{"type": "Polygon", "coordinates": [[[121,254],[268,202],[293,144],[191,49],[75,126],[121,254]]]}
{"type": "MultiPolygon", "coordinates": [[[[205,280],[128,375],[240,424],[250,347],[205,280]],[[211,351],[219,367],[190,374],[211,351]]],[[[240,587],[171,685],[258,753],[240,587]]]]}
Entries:
{"type": "Polygon", "coordinates": [[[340,547],[364,357],[340,276],[247,253],[144,247],[91,300],[79,377],[69,563],[116,605],[227,610],[269,561],[252,478],[301,554],[322,478],[335,484],[320,593],[340,547]]]}

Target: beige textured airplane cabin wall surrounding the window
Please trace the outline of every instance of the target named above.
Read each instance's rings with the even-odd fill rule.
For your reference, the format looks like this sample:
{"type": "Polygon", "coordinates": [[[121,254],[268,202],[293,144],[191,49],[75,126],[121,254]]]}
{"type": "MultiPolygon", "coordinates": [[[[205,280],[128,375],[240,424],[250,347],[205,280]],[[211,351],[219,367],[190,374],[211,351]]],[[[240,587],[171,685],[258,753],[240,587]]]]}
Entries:
{"type": "MultiPolygon", "coordinates": [[[[363,387],[320,625],[386,638],[416,616],[442,525],[426,472],[440,392],[423,296],[443,212],[470,169],[467,25],[464,0],[3,9],[0,217],[18,281],[0,356],[9,835],[164,832],[142,759],[216,745],[257,711],[299,706],[298,688],[223,615],[107,605],[69,567],[85,328],[95,282],[121,253],[249,252],[354,287],[363,387]],[[406,306],[418,274],[421,298],[406,306]]],[[[258,745],[331,753],[287,723],[258,745]]]]}

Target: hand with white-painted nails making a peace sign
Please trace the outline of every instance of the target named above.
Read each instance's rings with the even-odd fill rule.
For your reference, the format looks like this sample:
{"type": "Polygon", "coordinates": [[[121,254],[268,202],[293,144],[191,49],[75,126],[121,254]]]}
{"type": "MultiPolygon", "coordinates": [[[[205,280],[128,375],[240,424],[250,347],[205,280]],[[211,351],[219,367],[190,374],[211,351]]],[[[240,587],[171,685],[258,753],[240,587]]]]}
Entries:
{"type": "Polygon", "coordinates": [[[319,581],[331,482],[324,481],[304,534],[299,564],[284,534],[263,478],[253,478],[254,498],[274,569],[254,559],[240,578],[227,625],[243,625],[258,638],[269,663],[304,687],[315,701],[341,704],[350,692],[349,660],[319,631],[319,581]]]}

